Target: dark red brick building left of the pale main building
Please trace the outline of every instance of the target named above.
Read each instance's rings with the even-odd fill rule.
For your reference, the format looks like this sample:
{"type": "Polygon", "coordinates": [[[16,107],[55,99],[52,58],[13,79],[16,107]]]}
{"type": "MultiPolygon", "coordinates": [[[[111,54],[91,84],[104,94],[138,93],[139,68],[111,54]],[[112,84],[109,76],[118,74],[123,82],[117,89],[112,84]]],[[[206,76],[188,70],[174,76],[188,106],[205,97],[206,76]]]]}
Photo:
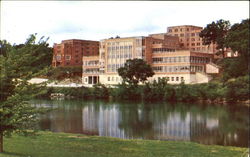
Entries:
{"type": "Polygon", "coordinates": [[[90,40],[63,40],[53,46],[52,66],[82,66],[83,56],[99,54],[99,42],[90,40]]]}

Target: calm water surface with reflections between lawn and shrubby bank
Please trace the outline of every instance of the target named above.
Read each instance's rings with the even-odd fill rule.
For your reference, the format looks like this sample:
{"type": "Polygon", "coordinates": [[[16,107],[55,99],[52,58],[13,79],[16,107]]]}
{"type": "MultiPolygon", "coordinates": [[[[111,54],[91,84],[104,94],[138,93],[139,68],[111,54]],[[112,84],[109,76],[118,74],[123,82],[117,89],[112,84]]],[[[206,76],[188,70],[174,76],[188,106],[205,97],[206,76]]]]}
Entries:
{"type": "Polygon", "coordinates": [[[248,147],[247,107],[81,100],[32,102],[53,109],[41,117],[42,130],[248,147]]]}

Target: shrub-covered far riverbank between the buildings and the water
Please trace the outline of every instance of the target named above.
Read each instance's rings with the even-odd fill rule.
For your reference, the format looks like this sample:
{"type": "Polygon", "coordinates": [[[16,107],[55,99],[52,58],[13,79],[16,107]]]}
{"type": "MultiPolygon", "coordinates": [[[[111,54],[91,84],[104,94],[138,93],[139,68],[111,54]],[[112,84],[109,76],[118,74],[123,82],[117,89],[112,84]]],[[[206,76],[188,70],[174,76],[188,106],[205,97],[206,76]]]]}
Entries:
{"type": "Polygon", "coordinates": [[[93,87],[45,87],[38,98],[62,96],[79,99],[116,99],[159,102],[196,102],[204,104],[249,104],[249,76],[239,77],[223,84],[209,82],[204,84],[168,84],[159,79],[145,85],[116,85],[113,88],[103,84],[93,87]]]}

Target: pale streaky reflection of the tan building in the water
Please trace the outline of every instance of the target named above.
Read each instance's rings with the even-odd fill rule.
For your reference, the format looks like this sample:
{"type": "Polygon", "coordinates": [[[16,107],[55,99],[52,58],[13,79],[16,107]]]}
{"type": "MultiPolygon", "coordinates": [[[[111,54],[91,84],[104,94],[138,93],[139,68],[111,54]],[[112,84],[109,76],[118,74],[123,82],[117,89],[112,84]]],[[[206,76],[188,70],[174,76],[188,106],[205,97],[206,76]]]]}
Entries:
{"type": "MultiPolygon", "coordinates": [[[[141,134],[140,136],[137,132],[140,132],[142,128],[133,129],[133,126],[145,124],[143,121],[140,122],[140,119],[143,119],[142,112],[145,113],[145,111],[138,110],[137,118],[139,122],[136,123],[138,119],[134,115],[130,115],[130,118],[134,117],[134,119],[126,120],[127,128],[122,128],[121,123],[124,123],[122,122],[124,120],[122,114],[124,113],[121,113],[115,105],[106,108],[99,106],[98,110],[93,105],[85,106],[82,109],[83,133],[118,138],[144,139],[147,137],[147,139],[184,141],[190,141],[191,138],[198,140],[199,137],[204,139],[205,134],[209,135],[209,139],[211,139],[213,135],[218,134],[218,118],[194,116],[190,112],[187,112],[184,117],[178,112],[170,112],[167,115],[149,112],[149,120],[153,125],[152,128],[147,129],[153,131],[148,131],[148,134],[141,134]]],[[[144,132],[146,131],[144,130],[144,132]]]]}

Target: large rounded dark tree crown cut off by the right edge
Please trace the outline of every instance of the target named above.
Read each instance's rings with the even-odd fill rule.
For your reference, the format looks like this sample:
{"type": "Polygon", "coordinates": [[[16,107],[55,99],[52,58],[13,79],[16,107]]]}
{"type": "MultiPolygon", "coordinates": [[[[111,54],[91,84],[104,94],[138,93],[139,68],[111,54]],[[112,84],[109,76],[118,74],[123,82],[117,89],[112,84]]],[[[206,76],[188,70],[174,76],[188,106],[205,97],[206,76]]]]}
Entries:
{"type": "Polygon", "coordinates": [[[226,45],[234,52],[238,52],[240,57],[245,59],[248,64],[249,60],[249,19],[234,24],[229,30],[226,37],[226,45]]]}

